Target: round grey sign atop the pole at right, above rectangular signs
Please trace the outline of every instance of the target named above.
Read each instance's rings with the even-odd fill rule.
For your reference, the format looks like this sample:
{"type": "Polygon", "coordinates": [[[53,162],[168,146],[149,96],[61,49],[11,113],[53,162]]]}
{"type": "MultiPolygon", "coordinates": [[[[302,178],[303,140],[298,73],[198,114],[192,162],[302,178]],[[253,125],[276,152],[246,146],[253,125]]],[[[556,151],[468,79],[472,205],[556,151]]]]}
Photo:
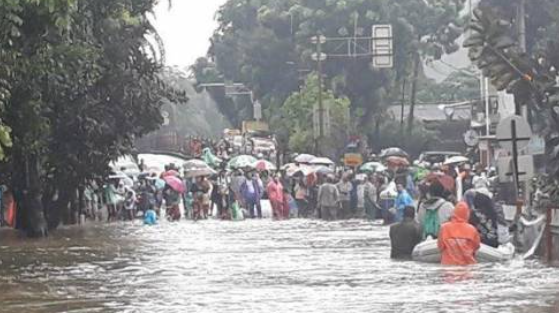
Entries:
{"type": "Polygon", "coordinates": [[[526,148],[532,139],[532,129],[522,116],[512,115],[505,118],[497,126],[497,141],[509,152],[513,150],[513,127],[516,128],[515,140],[518,150],[526,148]]]}

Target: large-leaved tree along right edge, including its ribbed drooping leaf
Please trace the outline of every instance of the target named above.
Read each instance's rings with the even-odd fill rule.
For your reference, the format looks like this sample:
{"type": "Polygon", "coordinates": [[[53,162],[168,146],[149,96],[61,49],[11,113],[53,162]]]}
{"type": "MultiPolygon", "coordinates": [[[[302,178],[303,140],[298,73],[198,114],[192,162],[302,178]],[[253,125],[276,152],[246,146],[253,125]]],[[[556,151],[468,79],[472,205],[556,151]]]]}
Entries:
{"type": "MultiPolygon", "coordinates": [[[[498,7],[476,10],[474,31],[464,45],[499,90],[513,94],[517,106],[527,104],[535,111],[533,126],[545,138],[547,156],[547,173],[539,185],[553,203],[559,201],[559,43],[550,38],[545,50],[526,54],[512,39],[512,25],[501,14],[498,7]]],[[[555,18],[559,20],[559,15],[555,18]]]]}

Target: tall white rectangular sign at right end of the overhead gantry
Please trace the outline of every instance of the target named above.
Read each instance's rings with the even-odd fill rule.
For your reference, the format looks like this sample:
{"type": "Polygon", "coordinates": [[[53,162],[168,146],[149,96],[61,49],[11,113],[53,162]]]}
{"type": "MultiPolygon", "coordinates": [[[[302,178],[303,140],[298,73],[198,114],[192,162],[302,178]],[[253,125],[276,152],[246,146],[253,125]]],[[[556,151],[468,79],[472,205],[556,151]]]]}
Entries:
{"type": "Polygon", "coordinates": [[[372,35],[373,67],[392,68],[394,66],[392,25],[374,25],[372,35]]]}

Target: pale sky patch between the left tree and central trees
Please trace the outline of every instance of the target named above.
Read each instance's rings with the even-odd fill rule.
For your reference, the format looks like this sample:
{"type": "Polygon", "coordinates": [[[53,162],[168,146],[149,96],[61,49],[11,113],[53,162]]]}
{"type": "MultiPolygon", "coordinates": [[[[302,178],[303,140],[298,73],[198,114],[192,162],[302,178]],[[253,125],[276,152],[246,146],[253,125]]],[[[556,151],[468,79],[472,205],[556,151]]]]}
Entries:
{"type": "Polygon", "coordinates": [[[215,13],[226,0],[173,0],[169,10],[161,0],[155,10],[155,25],[165,42],[167,65],[188,67],[210,46],[217,27],[215,13]]]}

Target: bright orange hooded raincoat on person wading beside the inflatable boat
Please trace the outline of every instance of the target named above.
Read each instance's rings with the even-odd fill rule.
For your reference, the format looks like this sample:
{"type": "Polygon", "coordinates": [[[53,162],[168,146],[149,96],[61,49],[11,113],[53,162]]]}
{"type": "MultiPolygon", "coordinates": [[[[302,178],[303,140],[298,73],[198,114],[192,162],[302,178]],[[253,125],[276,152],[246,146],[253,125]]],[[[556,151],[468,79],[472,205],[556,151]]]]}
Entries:
{"type": "Polygon", "coordinates": [[[443,224],[438,246],[443,265],[469,265],[477,263],[475,254],[480,247],[477,229],[468,223],[470,209],[460,202],[454,209],[450,222],[443,224]]]}

